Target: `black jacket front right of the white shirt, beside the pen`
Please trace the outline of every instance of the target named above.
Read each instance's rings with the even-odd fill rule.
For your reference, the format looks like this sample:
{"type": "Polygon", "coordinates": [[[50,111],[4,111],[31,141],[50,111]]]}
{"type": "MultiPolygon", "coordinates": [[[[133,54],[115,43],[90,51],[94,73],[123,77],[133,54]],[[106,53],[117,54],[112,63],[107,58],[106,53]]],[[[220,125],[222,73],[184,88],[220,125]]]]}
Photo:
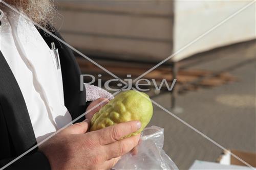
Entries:
{"type": "MultiPolygon", "coordinates": [[[[49,26],[51,28],[51,26],[49,26]]],[[[54,29],[53,33],[63,40],[60,34],[54,29]]],[[[59,59],[61,65],[63,92],[65,106],[69,110],[72,119],[74,120],[86,111],[86,90],[80,91],[80,69],[76,62],[73,52],[69,47],[59,42],[52,36],[49,36],[43,30],[38,29],[42,38],[51,48],[51,42],[55,43],[58,48],[59,59]]],[[[85,117],[81,117],[77,122],[81,122],[85,117]]]]}

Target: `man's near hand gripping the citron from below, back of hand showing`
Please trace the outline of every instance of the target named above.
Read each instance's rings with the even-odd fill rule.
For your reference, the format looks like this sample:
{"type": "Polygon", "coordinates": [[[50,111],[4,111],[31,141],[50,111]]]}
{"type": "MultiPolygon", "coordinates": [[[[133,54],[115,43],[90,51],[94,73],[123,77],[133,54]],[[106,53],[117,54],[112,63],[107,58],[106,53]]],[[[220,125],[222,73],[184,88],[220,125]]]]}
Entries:
{"type": "Polygon", "coordinates": [[[139,135],[118,140],[137,131],[141,126],[138,121],[86,133],[88,125],[71,125],[39,147],[52,169],[110,169],[138,144],[139,135]]]}

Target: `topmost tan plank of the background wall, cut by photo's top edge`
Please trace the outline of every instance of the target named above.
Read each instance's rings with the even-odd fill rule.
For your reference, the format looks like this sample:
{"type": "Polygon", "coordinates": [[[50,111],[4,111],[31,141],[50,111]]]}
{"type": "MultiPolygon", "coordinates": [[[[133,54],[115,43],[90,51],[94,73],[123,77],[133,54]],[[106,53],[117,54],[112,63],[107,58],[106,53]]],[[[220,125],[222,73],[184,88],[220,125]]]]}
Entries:
{"type": "Polygon", "coordinates": [[[57,1],[59,9],[161,16],[173,15],[173,4],[173,1],[57,1]]]}

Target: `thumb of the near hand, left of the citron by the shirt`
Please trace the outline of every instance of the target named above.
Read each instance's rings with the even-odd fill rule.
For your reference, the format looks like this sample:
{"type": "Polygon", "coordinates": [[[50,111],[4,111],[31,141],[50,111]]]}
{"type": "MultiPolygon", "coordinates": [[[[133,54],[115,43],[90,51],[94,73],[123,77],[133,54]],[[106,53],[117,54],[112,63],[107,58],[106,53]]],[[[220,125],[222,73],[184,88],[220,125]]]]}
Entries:
{"type": "Polygon", "coordinates": [[[88,127],[89,127],[89,120],[85,119],[83,122],[71,125],[63,131],[64,133],[68,133],[68,134],[82,134],[87,132],[88,127]]]}

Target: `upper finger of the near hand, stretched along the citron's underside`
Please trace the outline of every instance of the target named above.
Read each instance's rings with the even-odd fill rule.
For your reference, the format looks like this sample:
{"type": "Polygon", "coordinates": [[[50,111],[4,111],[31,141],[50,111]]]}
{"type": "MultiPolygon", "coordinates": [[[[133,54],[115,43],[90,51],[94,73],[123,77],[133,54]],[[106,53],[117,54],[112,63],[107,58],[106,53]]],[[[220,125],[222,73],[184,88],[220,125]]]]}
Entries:
{"type": "Polygon", "coordinates": [[[109,126],[98,131],[94,131],[98,137],[98,142],[101,145],[109,144],[121,139],[122,137],[136,132],[141,127],[139,121],[130,121],[109,126]]]}

